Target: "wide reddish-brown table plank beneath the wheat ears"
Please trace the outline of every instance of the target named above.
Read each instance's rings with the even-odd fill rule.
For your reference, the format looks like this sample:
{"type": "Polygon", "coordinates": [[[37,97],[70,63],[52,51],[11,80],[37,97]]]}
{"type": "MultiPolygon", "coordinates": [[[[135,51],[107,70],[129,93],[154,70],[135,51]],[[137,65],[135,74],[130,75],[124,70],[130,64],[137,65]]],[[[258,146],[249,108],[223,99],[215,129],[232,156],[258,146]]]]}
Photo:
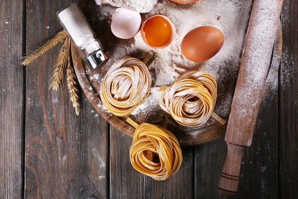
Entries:
{"type": "MultiPolygon", "coordinates": [[[[61,26],[73,0],[27,0],[27,52],[61,26]]],[[[75,115],[66,87],[49,90],[59,47],[27,67],[25,198],[107,198],[109,125],[80,91],[75,115]]]]}

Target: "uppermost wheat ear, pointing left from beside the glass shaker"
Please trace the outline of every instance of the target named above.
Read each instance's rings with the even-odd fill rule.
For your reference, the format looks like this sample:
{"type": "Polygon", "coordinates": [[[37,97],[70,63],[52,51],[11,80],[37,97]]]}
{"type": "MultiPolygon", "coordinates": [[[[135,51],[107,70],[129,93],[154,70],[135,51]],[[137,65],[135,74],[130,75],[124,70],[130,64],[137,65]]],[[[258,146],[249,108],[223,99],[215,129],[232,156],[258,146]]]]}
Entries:
{"type": "Polygon", "coordinates": [[[30,52],[22,62],[23,66],[31,64],[33,61],[44,55],[46,52],[57,46],[59,42],[62,42],[67,38],[67,33],[65,30],[60,31],[51,39],[45,41],[41,46],[37,47],[35,50],[30,52]]]}

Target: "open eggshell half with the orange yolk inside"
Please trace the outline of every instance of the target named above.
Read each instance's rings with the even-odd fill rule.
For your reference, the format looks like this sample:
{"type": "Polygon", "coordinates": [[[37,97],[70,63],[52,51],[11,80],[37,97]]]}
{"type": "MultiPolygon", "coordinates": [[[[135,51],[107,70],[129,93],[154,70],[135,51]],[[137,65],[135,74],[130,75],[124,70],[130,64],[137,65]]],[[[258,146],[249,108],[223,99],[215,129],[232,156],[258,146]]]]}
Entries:
{"type": "Polygon", "coordinates": [[[141,27],[144,42],[151,48],[165,48],[173,41],[176,29],[172,21],[162,15],[154,14],[146,19],[141,27]]]}

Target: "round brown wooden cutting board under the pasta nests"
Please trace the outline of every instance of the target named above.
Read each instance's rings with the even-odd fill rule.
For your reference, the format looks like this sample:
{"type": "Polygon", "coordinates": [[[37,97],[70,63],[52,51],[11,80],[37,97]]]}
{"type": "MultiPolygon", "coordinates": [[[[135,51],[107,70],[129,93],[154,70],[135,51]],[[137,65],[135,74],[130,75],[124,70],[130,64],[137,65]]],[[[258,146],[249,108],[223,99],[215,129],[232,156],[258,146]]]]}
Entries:
{"type": "MultiPolygon", "coordinates": [[[[109,5],[102,5],[101,9],[105,9],[105,6],[109,5]]],[[[210,142],[212,140],[218,139],[224,136],[226,124],[228,117],[224,118],[226,120],[225,125],[222,125],[214,118],[210,118],[208,122],[201,126],[192,127],[192,128],[185,128],[183,126],[178,125],[169,114],[164,112],[157,103],[155,106],[151,107],[150,110],[147,111],[137,111],[133,112],[132,114],[125,116],[125,117],[118,117],[113,115],[112,113],[108,112],[106,108],[104,108],[103,103],[99,97],[99,90],[101,86],[101,82],[105,74],[107,73],[110,66],[114,63],[115,60],[122,58],[124,56],[131,56],[140,58],[142,60],[142,54],[136,51],[135,54],[128,54],[127,46],[130,46],[134,42],[134,38],[132,39],[119,39],[115,37],[110,32],[110,19],[106,17],[102,19],[100,18],[101,22],[96,22],[97,17],[92,17],[94,15],[98,15],[98,8],[93,4],[87,5],[83,12],[87,19],[89,19],[90,25],[93,28],[94,32],[96,33],[98,39],[101,41],[105,48],[105,52],[108,56],[108,61],[102,66],[97,67],[95,71],[91,71],[89,67],[82,62],[78,50],[74,45],[72,45],[72,58],[75,73],[78,79],[78,82],[86,95],[87,99],[91,102],[94,108],[100,113],[100,115],[105,118],[110,124],[121,130],[123,133],[133,136],[135,128],[129,125],[126,122],[127,117],[130,117],[137,123],[148,122],[151,124],[158,124],[158,125],[165,125],[169,130],[171,130],[177,137],[181,146],[193,146],[199,145],[206,142],[210,142]]],[[[109,9],[111,7],[109,6],[109,9]]],[[[273,50],[271,66],[268,72],[267,80],[265,83],[264,88],[264,96],[266,96],[274,83],[275,77],[278,75],[278,68],[281,58],[281,47],[282,47],[282,32],[281,28],[277,33],[277,39],[275,42],[275,48],[273,50]],[[276,61],[278,60],[278,61],[276,61]],[[273,78],[272,78],[273,77],[273,78]]],[[[144,57],[143,57],[144,58],[144,57]]],[[[153,74],[152,70],[149,70],[150,73],[153,74]]],[[[153,74],[154,75],[154,74],[153,74]]],[[[230,80],[232,82],[228,82],[226,86],[236,85],[236,79],[230,80]]],[[[224,82],[224,81],[223,81],[224,82]]],[[[225,84],[225,83],[221,83],[225,84]]],[[[225,85],[219,85],[224,87],[225,85]]],[[[224,99],[221,99],[220,93],[218,93],[218,100],[224,101],[227,107],[230,107],[232,102],[232,97],[234,93],[234,87],[225,95],[224,99]],[[228,96],[228,98],[226,97],[228,96]],[[226,100],[228,99],[228,100],[226,100]]],[[[220,92],[220,90],[219,90],[220,92]]],[[[152,94],[149,94],[149,97],[152,94]]],[[[155,95],[155,94],[154,94],[155,95]]],[[[264,98],[263,98],[264,99],[264,98]]],[[[146,103],[146,100],[145,102],[146,103]]],[[[147,103],[149,103],[147,101],[147,103]]],[[[142,105],[142,104],[141,104],[142,105]]],[[[216,111],[217,107],[215,108],[216,111]]]]}

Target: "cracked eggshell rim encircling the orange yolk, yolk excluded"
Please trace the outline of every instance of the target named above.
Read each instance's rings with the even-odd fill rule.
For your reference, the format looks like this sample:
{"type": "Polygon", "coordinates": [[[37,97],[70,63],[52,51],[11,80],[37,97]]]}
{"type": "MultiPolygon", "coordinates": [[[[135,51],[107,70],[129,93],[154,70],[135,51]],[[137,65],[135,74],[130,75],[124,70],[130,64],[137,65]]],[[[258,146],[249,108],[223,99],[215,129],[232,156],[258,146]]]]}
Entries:
{"type": "Polygon", "coordinates": [[[161,48],[165,48],[165,47],[167,47],[167,46],[170,45],[171,42],[173,41],[173,39],[174,39],[174,37],[175,37],[175,34],[176,34],[176,28],[175,28],[175,25],[173,24],[173,22],[172,22],[168,17],[166,17],[166,16],[164,16],[164,15],[162,15],[162,14],[153,14],[153,15],[150,15],[150,16],[149,16],[149,17],[142,23],[142,27],[141,27],[141,36],[142,36],[142,39],[143,39],[144,42],[145,42],[148,46],[150,46],[151,48],[161,49],[161,48]],[[161,46],[151,46],[151,45],[149,45],[149,43],[148,43],[148,41],[147,41],[147,39],[146,39],[146,37],[145,37],[145,32],[144,32],[144,30],[143,30],[143,28],[144,28],[146,22],[147,22],[149,19],[151,19],[151,18],[153,18],[153,17],[155,17],[155,16],[160,16],[160,17],[164,18],[164,19],[170,24],[170,26],[171,26],[171,35],[170,35],[169,39],[167,40],[167,42],[165,42],[165,43],[164,43],[163,45],[161,45],[161,46]]]}

